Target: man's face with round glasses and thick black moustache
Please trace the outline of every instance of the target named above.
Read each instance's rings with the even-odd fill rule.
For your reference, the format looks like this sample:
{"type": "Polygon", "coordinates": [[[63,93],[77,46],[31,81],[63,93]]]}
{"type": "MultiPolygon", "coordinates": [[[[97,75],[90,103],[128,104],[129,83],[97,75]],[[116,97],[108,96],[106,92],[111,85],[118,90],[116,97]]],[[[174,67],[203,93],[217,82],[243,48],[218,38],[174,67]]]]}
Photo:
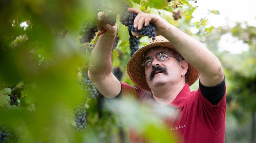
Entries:
{"type": "Polygon", "coordinates": [[[155,47],[150,49],[145,59],[153,58],[151,65],[145,67],[146,82],[149,88],[157,88],[166,84],[175,84],[181,82],[181,65],[174,58],[174,53],[171,49],[165,47],[155,47]],[[169,54],[165,60],[158,61],[156,57],[159,53],[166,52],[169,54]]]}

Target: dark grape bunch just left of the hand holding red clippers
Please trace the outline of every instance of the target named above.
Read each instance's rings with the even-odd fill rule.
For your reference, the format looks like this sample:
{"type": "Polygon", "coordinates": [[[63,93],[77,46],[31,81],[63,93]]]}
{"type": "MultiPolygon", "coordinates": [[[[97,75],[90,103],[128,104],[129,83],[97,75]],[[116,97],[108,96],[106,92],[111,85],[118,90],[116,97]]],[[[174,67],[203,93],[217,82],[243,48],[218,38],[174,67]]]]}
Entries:
{"type": "Polygon", "coordinates": [[[81,36],[79,39],[80,43],[90,43],[92,39],[94,39],[96,32],[98,32],[97,20],[97,17],[83,20],[80,30],[78,31],[79,36],[81,36]]]}

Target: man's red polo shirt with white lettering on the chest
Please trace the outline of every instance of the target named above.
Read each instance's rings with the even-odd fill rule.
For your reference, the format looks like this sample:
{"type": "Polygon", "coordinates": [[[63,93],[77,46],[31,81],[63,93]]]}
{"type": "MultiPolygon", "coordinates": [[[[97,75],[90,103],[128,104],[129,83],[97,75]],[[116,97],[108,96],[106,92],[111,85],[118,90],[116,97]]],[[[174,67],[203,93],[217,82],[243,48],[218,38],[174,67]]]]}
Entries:
{"type": "MultiPolygon", "coordinates": [[[[137,89],[127,83],[122,85],[122,99],[133,95],[136,100],[144,103],[162,124],[168,125],[170,133],[180,134],[182,143],[224,143],[226,118],[226,92],[221,101],[213,106],[205,99],[198,88],[190,91],[188,83],[183,87],[175,100],[168,106],[172,118],[160,115],[156,110],[159,104],[151,93],[137,89]],[[161,117],[162,116],[162,117],[161,117]]],[[[116,109],[120,109],[122,104],[116,109]]],[[[168,107],[167,106],[167,107],[168,107]]],[[[130,142],[150,142],[147,135],[138,136],[130,130],[130,142]]]]}

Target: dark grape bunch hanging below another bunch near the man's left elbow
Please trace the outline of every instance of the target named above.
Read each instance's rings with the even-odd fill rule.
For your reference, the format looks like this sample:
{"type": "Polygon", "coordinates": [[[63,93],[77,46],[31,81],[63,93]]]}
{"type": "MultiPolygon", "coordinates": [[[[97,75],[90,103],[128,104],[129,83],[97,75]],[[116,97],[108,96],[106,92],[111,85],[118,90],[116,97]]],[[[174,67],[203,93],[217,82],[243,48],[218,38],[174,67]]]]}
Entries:
{"type": "Polygon", "coordinates": [[[75,116],[75,128],[76,131],[84,131],[86,129],[86,111],[84,108],[85,102],[80,103],[76,107],[73,108],[73,113],[75,116]]]}

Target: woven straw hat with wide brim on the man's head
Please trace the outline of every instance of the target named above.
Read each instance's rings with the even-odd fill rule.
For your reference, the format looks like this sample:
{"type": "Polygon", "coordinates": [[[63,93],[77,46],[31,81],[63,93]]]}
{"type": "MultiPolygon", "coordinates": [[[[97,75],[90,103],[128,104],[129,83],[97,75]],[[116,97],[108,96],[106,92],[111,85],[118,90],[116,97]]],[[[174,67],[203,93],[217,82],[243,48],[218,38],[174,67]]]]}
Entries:
{"type": "MultiPolygon", "coordinates": [[[[127,63],[127,73],[136,86],[149,92],[151,92],[151,90],[146,82],[145,67],[142,65],[142,62],[145,60],[143,55],[149,49],[157,46],[170,48],[178,53],[182,59],[184,59],[180,52],[163,36],[156,36],[155,40],[151,39],[148,45],[136,51],[127,63]]],[[[189,63],[187,71],[187,83],[189,83],[189,86],[192,85],[198,78],[198,70],[189,63]]]]}

